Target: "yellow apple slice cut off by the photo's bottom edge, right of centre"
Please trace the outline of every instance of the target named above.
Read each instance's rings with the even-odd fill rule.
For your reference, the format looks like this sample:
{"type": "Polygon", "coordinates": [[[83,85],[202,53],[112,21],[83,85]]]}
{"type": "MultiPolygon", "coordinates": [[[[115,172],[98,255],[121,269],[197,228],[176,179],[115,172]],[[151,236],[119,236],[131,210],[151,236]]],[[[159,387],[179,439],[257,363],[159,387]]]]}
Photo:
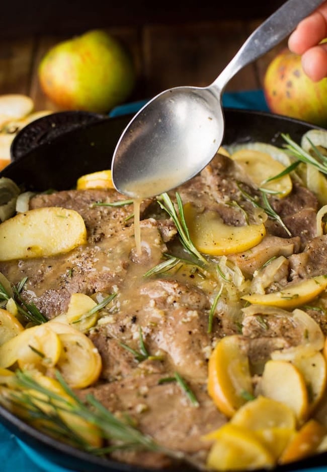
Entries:
{"type": "Polygon", "coordinates": [[[216,435],[207,456],[209,470],[251,470],[269,468],[275,459],[256,434],[227,423],[216,435]]]}

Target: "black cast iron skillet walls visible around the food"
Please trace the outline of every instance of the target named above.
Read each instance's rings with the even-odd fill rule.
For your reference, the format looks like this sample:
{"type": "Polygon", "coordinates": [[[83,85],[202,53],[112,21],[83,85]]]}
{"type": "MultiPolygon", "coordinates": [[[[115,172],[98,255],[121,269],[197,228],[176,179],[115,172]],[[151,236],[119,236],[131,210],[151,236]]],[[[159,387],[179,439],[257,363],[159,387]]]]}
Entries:
{"type": "MultiPolygon", "coordinates": [[[[99,119],[81,128],[75,128],[32,147],[0,172],[0,177],[10,177],[25,189],[62,190],[74,187],[76,179],[85,173],[110,168],[110,161],[118,138],[131,116],[99,119]]],[[[299,142],[302,134],[315,127],[305,122],[264,112],[225,109],[226,133],[224,144],[263,141],[277,146],[284,143],[280,133],[289,133],[299,142]]],[[[53,462],[80,472],[145,472],[135,467],[109,459],[95,457],[62,444],[26,425],[0,407],[0,421],[17,437],[46,454],[53,462]]],[[[327,453],[322,453],[290,465],[278,466],[276,472],[318,467],[327,464],[327,453]]],[[[188,470],[182,466],[179,472],[188,470]]],[[[158,472],[158,471],[156,471],[158,472]]],[[[176,471],[177,472],[177,471],[176,471]]]]}

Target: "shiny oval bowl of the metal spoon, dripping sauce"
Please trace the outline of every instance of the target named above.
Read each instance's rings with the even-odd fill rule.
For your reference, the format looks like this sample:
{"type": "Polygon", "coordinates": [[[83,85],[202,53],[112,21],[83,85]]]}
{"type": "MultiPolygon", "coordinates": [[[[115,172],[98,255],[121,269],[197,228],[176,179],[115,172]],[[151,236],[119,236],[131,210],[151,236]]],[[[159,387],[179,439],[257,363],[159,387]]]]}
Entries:
{"type": "Polygon", "coordinates": [[[176,87],[160,93],[139,111],[120,138],[113,165],[115,184],[133,198],[180,185],[217,152],[223,121],[217,97],[209,88],[176,87]]]}

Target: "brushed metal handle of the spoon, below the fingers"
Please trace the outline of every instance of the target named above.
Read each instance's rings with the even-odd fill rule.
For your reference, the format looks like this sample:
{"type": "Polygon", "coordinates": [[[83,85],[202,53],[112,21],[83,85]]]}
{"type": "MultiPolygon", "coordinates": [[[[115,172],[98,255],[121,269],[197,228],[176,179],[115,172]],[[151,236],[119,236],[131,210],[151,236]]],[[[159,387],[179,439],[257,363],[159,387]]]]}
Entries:
{"type": "Polygon", "coordinates": [[[288,0],[285,2],[249,36],[210,87],[218,89],[220,94],[238,71],[279,44],[303,18],[321,4],[322,0],[288,0]]]}

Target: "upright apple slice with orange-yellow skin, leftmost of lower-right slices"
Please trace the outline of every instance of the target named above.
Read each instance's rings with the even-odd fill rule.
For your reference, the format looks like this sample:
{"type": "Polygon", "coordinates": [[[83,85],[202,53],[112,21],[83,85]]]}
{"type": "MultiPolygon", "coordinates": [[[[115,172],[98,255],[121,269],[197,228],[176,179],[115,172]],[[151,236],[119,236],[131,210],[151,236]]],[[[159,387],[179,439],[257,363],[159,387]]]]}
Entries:
{"type": "Polygon", "coordinates": [[[208,393],[219,410],[232,417],[252,393],[249,360],[237,335],[218,341],[208,365],[208,393]]]}

